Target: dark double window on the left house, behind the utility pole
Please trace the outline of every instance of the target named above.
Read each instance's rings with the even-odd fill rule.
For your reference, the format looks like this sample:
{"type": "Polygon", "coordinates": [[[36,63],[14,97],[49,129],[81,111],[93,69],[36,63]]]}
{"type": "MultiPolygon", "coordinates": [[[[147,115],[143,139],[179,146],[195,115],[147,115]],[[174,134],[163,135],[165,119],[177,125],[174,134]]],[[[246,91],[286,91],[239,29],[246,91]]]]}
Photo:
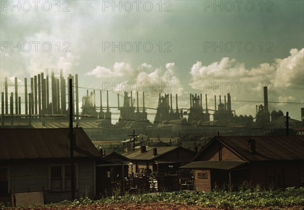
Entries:
{"type": "MultiPolygon", "coordinates": [[[[71,189],[71,170],[69,165],[50,166],[50,190],[61,191],[71,189]]],[[[74,166],[74,183],[77,189],[77,166],[74,166]]]]}

